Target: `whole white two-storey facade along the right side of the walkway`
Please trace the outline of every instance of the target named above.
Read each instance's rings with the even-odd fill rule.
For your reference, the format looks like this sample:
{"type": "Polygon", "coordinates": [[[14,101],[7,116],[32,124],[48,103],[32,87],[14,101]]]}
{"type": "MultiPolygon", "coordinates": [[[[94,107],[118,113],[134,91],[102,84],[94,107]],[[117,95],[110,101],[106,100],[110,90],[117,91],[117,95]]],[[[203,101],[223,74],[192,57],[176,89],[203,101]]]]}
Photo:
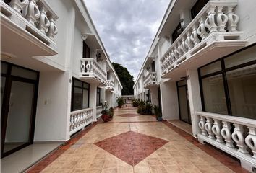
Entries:
{"type": "Polygon", "coordinates": [[[255,1],[172,0],[135,81],[163,119],[256,168],[255,1]],[[156,76],[156,77],[155,77],[156,76]]]}

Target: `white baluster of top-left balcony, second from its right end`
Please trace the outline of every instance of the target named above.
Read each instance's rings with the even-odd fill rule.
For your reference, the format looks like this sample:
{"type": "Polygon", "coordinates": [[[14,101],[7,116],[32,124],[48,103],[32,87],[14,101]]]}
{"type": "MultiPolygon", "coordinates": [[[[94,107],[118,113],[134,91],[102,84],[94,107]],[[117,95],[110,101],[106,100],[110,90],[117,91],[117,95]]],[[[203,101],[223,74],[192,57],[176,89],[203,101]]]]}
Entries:
{"type": "Polygon", "coordinates": [[[39,6],[40,10],[40,18],[39,18],[39,24],[38,24],[38,30],[46,34],[48,31],[48,27],[50,26],[51,22],[46,16],[47,9],[43,5],[39,6]]]}

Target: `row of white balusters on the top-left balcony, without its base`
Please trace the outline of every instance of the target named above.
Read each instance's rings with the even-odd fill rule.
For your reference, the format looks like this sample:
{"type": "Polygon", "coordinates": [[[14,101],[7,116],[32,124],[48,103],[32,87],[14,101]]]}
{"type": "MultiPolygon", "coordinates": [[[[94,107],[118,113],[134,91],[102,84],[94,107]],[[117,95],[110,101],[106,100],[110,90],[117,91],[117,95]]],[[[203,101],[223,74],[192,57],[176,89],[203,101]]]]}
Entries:
{"type": "Polygon", "coordinates": [[[58,33],[55,25],[58,17],[45,0],[11,0],[8,5],[51,40],[58,33]]]}

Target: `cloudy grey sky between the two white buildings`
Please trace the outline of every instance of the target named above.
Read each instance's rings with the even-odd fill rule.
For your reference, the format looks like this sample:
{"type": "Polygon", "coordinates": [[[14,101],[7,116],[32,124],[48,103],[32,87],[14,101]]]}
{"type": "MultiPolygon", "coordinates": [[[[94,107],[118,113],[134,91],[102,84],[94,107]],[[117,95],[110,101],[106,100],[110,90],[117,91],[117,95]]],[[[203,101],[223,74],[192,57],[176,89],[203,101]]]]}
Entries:
{"type": "Polygon", "coordinates": [[[114,63],[136,79],[170,0],[85,0],[114,63]]]}

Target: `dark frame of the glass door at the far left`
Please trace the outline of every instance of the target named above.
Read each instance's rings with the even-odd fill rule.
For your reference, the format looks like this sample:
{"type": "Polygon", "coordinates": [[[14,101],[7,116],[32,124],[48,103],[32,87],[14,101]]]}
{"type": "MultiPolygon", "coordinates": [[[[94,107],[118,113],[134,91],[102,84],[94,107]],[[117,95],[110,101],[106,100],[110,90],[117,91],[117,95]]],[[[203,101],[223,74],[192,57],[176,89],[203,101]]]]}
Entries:
{"type": "Polygon", "coordinates": [[[1,63],[7,64],[7,74],[1,74],[1,76],[4,76],[6,78],[5,86],[4,86],[3,103],[2,103],[2,107],[1,107],[1,158],[3,158],[3,157],[8,156],[9,154],[12,154],[22,148],[25,148],[25,146],[29,146],[30,144],[33,144],[34,133],[35,133],[35,115],[36,115],[36,108],[37,108],[37,101],[38,101],[39,72],[33,71],[29,68],[25,68],[22,66],[14,65],[12,63],[7,63],[5,61],[1,61],[1,63]],[[11,74],[12,66],[17,66],[18,68],[36,72],[37,78],[35,80],[33,80],[33,79],[26,79],[26,78],[20,77],[20,76],[13,76],[11,74]],[[21,146],[12,148],[10,151],[7,151],[4,153],[4,141],[5,141],[6,131],[7,131],[7,120],[8,120],[8,113],[9,113],[9,101],[10,101],[10,93],[11,93],[11,89],[12,89],[12,81],[21,81],[21,82],[25,82],[25,83],[29,83],[29,84],[34,84],[34,90],[33,90],[34,93],[33,93],[31,117],[30,117],[29,141],[27,143],[22,144],[21,146]]]}

